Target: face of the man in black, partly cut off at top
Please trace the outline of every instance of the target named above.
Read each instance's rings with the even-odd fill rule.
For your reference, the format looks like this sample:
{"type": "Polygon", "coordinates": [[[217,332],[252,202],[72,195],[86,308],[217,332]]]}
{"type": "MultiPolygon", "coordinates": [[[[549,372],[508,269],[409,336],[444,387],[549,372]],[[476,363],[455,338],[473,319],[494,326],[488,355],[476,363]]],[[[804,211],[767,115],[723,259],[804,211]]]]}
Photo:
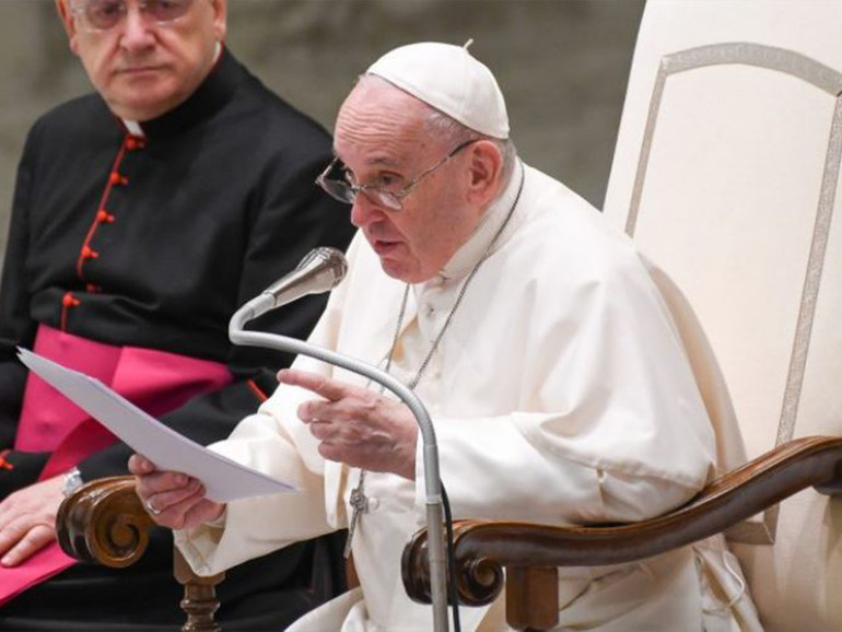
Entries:
{"type": "Polygon", "coordinates": [[[176,21],[157,24],[126,0],[127,14],[110,28],[90,31],[80,15],[89,0],[57,0],[70,48],[112,112],[149,120],[186,101],[213,65],[225,36],[226,0],[192,0],[176,21]]]}

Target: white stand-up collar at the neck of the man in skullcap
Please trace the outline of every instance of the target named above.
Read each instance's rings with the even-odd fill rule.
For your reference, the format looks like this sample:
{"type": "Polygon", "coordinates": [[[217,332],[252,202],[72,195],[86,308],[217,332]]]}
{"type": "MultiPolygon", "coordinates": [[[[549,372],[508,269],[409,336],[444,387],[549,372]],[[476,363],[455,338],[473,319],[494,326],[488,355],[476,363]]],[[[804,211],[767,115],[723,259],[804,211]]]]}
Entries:
{"type": "MultiPolygon", "coordinates": [[[[512,204],[517,199],[517,192],[521,189],[521,180],[524,177],[523,167],[521,166],[521,159],[515,159],[515,165],[512,169],[512,177],[508,179],[506,188],[503,194],[494,200],[482,215],[482,220],[479,225],[473,230],[473,233],[461,247],[451,257],[451,260],[444,265],[441,272],[436,274],[436,278],[443,280],[459,279],[470,272],[473,266],[477,264],[480,257],[486,254],[486,250],[491,244],[491,239],[500,230],[503,222],[506,221],[512,204]]],[[[506,226],[505,232],[508,233],[511,229],[506,226]]],[[[498,243],[494,244],[494,249],[499,248],[505,239],[505,235],[501,235],[498,238],[498,243]]]]}

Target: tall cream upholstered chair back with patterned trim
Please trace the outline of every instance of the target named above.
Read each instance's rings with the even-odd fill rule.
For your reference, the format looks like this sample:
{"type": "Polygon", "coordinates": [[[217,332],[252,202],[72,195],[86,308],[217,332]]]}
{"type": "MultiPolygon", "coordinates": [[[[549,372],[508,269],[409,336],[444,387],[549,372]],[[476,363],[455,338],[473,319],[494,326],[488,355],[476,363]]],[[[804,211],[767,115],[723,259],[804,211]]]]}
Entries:
{"type": "MultiPolygon", "coordinates": [[[[676,317],[723,471],[842,436],[841,94],[842,2],[645,10],[605,212],[676,317]]],[[[808,490],[728,537],[770,632],[842,630],[842,501],[808,490]]]]}

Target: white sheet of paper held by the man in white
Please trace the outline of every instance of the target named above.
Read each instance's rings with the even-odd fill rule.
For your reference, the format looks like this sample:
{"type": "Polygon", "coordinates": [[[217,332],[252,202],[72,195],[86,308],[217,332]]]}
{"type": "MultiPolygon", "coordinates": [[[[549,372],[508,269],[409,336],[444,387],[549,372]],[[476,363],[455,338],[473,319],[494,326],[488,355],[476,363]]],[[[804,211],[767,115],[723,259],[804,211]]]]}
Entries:
{"type": "Polygon", "coordinates": [[[98,379],[71,371],[25,349],[17,356],[73,403],[108,428],[124,443],[150,458],[160,469],[199,479],[209,499],[237,499],[297,491],[293,485],[211,452],[167,428],[98,379]]]}

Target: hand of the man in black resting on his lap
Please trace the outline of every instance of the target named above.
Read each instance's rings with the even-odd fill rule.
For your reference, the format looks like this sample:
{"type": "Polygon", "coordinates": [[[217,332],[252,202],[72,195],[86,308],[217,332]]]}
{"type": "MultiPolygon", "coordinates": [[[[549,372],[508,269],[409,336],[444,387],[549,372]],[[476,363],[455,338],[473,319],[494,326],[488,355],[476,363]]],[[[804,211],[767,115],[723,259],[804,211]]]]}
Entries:
{"type": "Polygon", "coordinates": [[[0,564],[16,566],[56,540],[56,515],[65,496],[57,476],[0,502],[0,564]]]}

